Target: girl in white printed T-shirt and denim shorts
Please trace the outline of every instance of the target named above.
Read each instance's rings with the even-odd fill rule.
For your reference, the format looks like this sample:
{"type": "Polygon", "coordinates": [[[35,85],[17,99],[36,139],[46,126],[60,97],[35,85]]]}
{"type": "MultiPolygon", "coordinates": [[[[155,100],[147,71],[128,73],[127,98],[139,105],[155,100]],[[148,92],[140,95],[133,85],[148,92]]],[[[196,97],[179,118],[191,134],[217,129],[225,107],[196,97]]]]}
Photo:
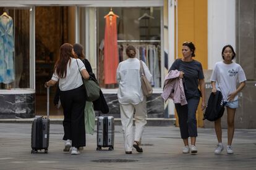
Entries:
{"type": "MultiPolygon", "coordinates": [[[[239,106],[238,93],[244,88],[246,77],[242,67],[233,62],[236,53],[231,45],[223,47],[221,56],[223,61],[215,64],[211,75],[211,86],[213,87],[211,92],[216,93],[216,91],[220,91],[223,95],[224,105],[226,106],[228,113],[228,145],[226,152],[228,154],[233,154],[231,144],[234,136],[234,116],[236,108],[239,106]],[[236,87],[237,81],[239,82],[238,87],[236,87]]],[[[220,154],[224,149],[221,139],[221,118],[215,121],[215,132],[218,139],[215,154],[220,154]]]]}

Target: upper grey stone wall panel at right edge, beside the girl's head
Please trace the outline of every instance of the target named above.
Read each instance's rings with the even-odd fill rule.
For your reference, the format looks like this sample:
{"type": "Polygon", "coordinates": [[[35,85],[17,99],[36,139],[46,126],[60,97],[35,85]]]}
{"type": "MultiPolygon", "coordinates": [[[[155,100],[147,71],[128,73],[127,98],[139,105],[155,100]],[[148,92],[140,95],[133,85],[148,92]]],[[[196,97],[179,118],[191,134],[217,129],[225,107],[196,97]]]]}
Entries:
{"type": "Polygon", "coordinates": [[[255,1],[237,0],[236,3],[236,51],[237,62],[245,71],[247,79],[255,76],[255,1]]]}

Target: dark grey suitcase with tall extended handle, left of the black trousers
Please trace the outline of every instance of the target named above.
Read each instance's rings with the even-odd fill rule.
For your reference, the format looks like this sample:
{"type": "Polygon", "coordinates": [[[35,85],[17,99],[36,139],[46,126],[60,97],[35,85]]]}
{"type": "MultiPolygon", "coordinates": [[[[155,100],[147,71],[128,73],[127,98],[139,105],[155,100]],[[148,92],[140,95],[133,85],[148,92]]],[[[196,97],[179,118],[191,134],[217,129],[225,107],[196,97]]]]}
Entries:
{"type": "Polygon", "coordinates": [[[38,150],[45,150],[48,153],[49,147],[49,87],[47,87],[47,118],[35,118],[31,131],[31,153],[38,153],[38,150]]]}

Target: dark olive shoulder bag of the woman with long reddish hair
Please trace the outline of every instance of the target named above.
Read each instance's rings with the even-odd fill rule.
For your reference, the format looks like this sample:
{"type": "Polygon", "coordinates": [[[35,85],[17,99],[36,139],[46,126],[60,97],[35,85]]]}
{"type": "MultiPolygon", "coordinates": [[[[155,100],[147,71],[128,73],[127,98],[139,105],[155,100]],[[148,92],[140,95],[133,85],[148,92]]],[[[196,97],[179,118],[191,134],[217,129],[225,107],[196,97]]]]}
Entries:
{"type": "MultiPolygon", "coordinates": [[[[79,67],[78,62],[77,62],[77,66],[79,67]]],[[[83,85],[85,86],[85,99],[88,102],[93,102],[93,101],[99,99],[99,97],[100,97],[99,84],[96,83],[96,80],[94,78],[92,78],[92,76],[90,76],[89,79],[84,79],[80,70],[79,70],[79,72],[82,77],[83,85]]]]}

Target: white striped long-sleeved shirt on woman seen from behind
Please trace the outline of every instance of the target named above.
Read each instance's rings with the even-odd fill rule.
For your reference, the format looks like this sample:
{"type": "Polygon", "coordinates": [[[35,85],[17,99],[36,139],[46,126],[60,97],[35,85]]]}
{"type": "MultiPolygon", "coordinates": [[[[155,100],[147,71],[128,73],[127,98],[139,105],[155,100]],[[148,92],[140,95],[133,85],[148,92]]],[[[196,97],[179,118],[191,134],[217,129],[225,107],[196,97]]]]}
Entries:
{"type": "MultiPolygon", "coordinates": [[[[147,65],[143,63],[145,76],[151,82],[152,75],[147,65]]],[[[116,79],[119,84],[117,98],[121,104],[134,104],[143,101],[142,84],[140,81],[140,60],[127,59],[119,63],[116,70],[116,79]]]]}

